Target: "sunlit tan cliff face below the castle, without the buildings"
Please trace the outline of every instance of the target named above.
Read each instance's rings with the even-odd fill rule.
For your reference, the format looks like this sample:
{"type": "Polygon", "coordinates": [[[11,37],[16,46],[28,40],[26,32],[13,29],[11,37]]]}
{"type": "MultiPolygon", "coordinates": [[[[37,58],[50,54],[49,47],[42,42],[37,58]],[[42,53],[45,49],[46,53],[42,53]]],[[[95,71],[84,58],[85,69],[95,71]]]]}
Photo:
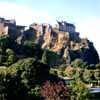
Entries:
{"type": "Polygon", "coordinates": [[[88,64],[99,62],[93,43],[88,39],[81,39],[77,32],[59,31],[57,27],[52,28],[50,25],[34,23],[24,32],[24,41],[27,39],[57,53],[66,63],[76,58],[83,59],[88,64]]]}

